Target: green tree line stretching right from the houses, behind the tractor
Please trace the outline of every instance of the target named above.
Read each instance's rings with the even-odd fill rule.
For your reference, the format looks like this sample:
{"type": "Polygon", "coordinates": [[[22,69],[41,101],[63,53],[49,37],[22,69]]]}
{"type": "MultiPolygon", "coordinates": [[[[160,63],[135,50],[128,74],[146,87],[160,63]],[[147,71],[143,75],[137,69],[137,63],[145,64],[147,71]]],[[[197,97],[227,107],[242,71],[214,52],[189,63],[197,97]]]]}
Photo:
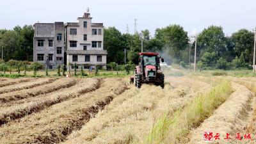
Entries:
{"type": "MultiPolygon", "coordinates": [[[[147,29],[141,33],[143,51],[159,52],[169,65],[176,63],[187,67],[194,62],[195,40],[191,41],[182,26],[173,24],[158,28],[154,36],[147,29]]],[[[254,34],[248,29],[239,29],[231,36],[225,36],[221,26],[209,26],[197,35],[197,65],[201,70],[252,68],[253,40],[254,34]]],[[[127,60],[138,63],[140,33],[122,34],[115,27],[106,28],[104,48],[108,50],[108,62],[124,63],[124,49],[127,49],[127,60]]]]}

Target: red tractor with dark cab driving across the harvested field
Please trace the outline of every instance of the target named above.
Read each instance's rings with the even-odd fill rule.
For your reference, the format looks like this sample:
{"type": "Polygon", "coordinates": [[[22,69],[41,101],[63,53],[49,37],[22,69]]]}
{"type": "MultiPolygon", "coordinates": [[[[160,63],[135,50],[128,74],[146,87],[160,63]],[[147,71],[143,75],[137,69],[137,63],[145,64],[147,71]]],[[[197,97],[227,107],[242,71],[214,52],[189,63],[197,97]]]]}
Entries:
{"type": "Polygon", "coordinates": [[[139,65],[134,69],[134,76],[130,77],[130,83],[134,83],[137,88],[142,83],[153,83],[164,88],[164,74],[159,65],[160,60],[157,52],[140,52],[139,65]]]}

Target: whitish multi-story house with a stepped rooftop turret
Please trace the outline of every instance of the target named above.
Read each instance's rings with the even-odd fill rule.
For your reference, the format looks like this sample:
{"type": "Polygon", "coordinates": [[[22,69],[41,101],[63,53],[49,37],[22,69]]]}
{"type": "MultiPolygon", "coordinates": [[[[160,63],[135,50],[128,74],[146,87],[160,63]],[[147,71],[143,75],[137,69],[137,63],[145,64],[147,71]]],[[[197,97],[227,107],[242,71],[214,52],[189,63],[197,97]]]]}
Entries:
{"type": "Polygon", "coordinates": [[[108,52],[103,50],[103,23],[92,23],[89,12],[77,20],[65,24],[68,68],[74,68],[74,63],[83,68],[105,66],[108,52]]]}

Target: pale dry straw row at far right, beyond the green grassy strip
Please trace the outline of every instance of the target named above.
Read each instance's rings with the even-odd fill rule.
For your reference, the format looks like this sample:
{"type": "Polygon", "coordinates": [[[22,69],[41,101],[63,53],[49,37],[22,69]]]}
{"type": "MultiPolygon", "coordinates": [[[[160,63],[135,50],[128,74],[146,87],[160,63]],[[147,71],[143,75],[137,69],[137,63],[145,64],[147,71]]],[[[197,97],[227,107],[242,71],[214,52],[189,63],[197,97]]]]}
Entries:
{"type": "Polygon", "coordinates": [[[224,140],[226,133],[234,136],[236,132],[245,132],[254,100],[253,93],[237,83],[232,83],[232,87],[235,92],[200,127],[191,132],[189,143],[205,143],[202,136],[204,131],[220,133],[220,140],[214,143],[227,143],[224,140]]]}

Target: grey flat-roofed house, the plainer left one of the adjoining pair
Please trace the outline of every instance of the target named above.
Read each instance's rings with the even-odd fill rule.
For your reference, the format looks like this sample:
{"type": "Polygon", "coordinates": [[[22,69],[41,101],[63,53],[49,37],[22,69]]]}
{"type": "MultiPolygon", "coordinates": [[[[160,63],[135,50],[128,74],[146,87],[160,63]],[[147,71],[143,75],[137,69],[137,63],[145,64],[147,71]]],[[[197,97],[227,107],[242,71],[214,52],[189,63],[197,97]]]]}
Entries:
{"type": "Polygon", "coordinates": [[[63,22],[35,23],[33,61],[45,64],[45,67],[56,68],[64,63],[63,22]]]}

